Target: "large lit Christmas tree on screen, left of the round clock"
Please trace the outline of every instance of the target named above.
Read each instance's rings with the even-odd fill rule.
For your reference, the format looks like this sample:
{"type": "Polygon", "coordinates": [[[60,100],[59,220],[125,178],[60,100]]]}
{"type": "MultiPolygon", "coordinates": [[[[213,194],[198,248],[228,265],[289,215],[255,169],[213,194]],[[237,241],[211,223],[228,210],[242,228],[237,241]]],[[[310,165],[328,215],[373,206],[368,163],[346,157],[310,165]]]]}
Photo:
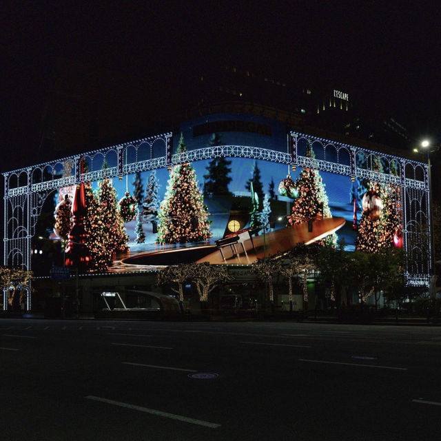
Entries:
{"type": "MultiPolygon", "coordinates": [[[[177,153],[185,151],[181,134],[177,153]]],[[[197,242],[211,237],[208,214],[192,165],[174,165],[158,211],[158,243],[197,242]]]]}

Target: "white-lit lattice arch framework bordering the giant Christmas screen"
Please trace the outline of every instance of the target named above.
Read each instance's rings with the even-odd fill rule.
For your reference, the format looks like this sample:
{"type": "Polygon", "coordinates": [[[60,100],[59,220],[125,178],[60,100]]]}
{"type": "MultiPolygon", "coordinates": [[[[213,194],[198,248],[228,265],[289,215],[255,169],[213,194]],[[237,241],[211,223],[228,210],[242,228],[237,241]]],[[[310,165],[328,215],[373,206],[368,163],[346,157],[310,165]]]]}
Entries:
{"type": "MultiPolygon", "coordinates": [[[[188,148],[191,149],[191,145],[188,148]]],[[[429,284],[432,265],[431,207],[426,164],[300,132],[287,133],[287,145],[280,148],[285,151],[254,145],[216,145],[173,154],[172,133],[167,132],[86,152],[81,156],[69,156],[57,161],[5,172],[3,173],[5,181],[3,265],[32,269],[31,240],[35,234],[41,208],[45,199],[61,187],[204,159],[252,158],[285,164],[289,167],[314,167],[322,172],[350,176],[352,179],[363,178],[399,186],[407,283],[429,284]],[[311,144],[316,158],[305,156],[307,143],[311,144]],[[366,158],[362,166],[357,166],[357,157],[366,158]],[[397,174],[372,170],[372,161],[369,161],[369,158],[373,157],[389,164],[389,170],[393,161],[397,174]],[[80,172],[81,158],[88,163],[88,172],[80,172]],[[103,158],[107,162],[107,167],[101,165],[103,158]],[[96,165],[97,163],[100,165],[96,165]],[[61,177],[60,175],[63,174],[64,176],[61,177]],[[418,179],[419,175],[422,175],[422,178],[418,179]],[[422,254],[427,255],[427,258],[421,259],[422,254]]],[[[31,309],[30,287],[27,298],[26,308],[31,309]]],[[[3,305],[6,308],[6,291],[3,293],[3,305]]]]}

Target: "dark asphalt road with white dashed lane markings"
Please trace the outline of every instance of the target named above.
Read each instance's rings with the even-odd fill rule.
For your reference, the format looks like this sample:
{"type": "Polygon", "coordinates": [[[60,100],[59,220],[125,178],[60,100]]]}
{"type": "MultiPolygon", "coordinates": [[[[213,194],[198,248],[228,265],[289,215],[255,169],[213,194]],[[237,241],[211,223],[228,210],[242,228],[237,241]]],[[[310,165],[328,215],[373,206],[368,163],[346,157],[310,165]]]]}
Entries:
{"type": "Polygon", "coordinates": [[[0,439],[440,440],[440,373],[440,327],[2,319],[0,439]]]}

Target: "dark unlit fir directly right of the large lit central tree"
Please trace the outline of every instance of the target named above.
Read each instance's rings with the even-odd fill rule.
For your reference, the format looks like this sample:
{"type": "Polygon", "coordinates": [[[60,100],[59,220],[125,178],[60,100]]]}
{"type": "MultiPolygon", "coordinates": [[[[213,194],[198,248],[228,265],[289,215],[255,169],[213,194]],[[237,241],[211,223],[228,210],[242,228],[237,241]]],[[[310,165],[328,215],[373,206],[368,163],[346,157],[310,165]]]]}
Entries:
{"type": "MultiPolygon", "coordinates": [[[[216,133],[212,134],[208,144],[210,146],[220,145],[220,136],[216,133]]],[[[209,161],[207,174],[204,174],[204,194],[229,194],[228,184],[232,181],[229,176],[231,173],[230,165],[232,161],[225,158],[213,158],[209,161]]]]}

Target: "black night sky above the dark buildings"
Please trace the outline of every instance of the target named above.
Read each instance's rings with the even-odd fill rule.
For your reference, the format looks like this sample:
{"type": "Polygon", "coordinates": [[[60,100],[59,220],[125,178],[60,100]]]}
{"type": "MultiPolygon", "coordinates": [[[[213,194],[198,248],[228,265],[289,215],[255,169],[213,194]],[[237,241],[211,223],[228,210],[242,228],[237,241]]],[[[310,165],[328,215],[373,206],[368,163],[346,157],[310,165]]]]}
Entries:
{"type": "Polygon", "coordinates": [[[356,88],[416,141],[429,136],[441,143],[438,2],[112,3],[1,2],[2,172],[39,162],[32,155],[60,59],[161,81],[164,88],[223,65],[289,83],[356,88]]]}

